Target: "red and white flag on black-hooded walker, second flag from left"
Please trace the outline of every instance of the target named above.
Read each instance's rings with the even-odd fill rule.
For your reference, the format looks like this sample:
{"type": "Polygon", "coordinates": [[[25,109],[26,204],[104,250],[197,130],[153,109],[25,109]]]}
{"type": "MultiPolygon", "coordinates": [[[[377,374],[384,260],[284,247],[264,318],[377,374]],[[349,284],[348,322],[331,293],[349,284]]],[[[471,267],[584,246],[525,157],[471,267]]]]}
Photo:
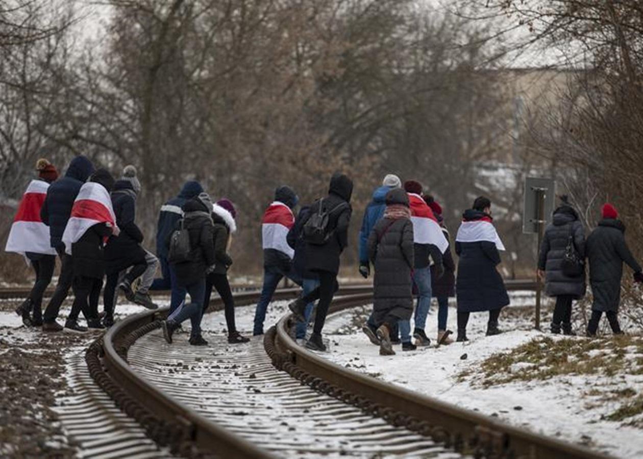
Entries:
{"type": "Polygon", "coordinates": [[[69,221],[62,233],[65,251],[71,255],[71,244],[77,242],[89,228],[98,223],[109,223],[112,228],[116,228],[112,200],[104,186],[87,182],[80,187],[71,208],[69,221]]]}

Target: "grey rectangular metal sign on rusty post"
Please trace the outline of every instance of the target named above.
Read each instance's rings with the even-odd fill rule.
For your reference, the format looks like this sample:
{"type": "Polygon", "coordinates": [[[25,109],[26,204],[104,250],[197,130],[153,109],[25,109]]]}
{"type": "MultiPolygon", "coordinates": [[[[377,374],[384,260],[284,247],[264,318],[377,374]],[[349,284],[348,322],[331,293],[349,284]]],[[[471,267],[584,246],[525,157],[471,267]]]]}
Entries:
{"type": "Polygon", "coordinates": [[[556,182],[554,179],[527,177],[523,207],[523,233],[538,233],[538,223],[544,226],[552,220],[556,182]]]}

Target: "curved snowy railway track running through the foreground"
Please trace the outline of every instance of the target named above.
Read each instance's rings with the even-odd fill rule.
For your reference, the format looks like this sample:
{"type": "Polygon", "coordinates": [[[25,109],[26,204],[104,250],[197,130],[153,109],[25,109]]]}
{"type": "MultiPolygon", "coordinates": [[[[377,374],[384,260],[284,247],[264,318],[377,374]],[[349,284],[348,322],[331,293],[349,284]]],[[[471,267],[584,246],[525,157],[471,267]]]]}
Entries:
{"type": "MultiPolygon", "coordinates": [[[[278,291],[275,300],[296,293],[278,291]]],[[[331,312],[371,298],[367,286],[340,294],[331,312]]],[[[243,305],[257,295],[235,298],[243,305]]],[[[94,381],[174,455],[604,457],[334,365],[294,342],[289,316],[263,343],[228,346],[222,336],[208,336],[209,347],[187,350],[185,339],[163,341],[163,313],[118,323],[89,348],[86,361],[94,381]]]]}

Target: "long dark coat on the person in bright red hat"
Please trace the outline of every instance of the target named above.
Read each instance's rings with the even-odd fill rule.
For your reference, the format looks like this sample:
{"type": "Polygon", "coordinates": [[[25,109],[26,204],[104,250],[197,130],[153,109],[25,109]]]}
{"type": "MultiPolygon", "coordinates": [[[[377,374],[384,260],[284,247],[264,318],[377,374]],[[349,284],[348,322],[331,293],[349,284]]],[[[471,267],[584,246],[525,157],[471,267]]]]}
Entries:
{"type": "Polygon", "coordinates": [[[601,220],[587,238],[586,251],[590,260],[590,283],[594,296],[592,309],[618,311],[623,262],[635,273],[641,271],[625,242],[625,225],[620,220],[601,220]]]}

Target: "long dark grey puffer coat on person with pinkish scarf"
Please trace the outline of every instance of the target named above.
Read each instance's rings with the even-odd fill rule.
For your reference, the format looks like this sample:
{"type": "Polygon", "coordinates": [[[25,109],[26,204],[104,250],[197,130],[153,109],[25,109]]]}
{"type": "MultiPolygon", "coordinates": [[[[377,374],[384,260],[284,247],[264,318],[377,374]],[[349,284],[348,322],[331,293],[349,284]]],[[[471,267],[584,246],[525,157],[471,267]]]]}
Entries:
{"type": "MultiPolygon", "coordinates": [[[[405,195],[404,190],[399,192],[405,195]]],[[[399,201],[401,199],[394,199],[391,204],[401,204],[399,201]]],[[[377,222],[368,237],[368,257],[375,267],[375,322],[380,325],[386,316],[409,320],[413,314],[413,223],[410,219],[384,218],[377,222]]]]}

